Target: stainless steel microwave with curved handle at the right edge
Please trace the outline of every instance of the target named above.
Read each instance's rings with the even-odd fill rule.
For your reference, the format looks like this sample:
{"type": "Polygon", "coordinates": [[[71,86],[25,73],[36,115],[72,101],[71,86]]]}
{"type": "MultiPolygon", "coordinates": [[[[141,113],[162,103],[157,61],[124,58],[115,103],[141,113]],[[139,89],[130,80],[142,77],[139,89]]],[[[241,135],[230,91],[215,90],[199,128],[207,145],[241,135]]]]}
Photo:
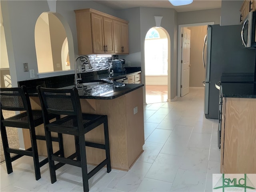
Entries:
{"type": "Polygon", "coordinates": [[[249,12],[248,16],[244,19],[241,37],[245,47],[256,48],[256,12],[249,12]]]}

